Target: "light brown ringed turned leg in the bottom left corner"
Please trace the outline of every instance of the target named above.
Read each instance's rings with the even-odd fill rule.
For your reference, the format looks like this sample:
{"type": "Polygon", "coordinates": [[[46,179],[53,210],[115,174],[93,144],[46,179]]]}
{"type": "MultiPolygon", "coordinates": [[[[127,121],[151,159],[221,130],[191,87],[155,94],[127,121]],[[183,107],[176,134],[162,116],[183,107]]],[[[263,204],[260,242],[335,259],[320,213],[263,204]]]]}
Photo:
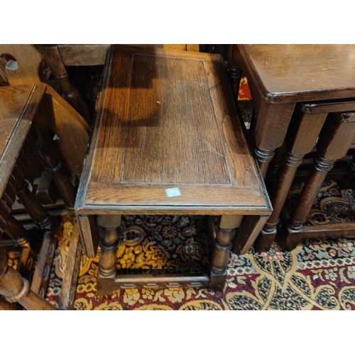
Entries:
{"type": "Polygon", "coordinates": [[[30,290],[28,280],[6,263],[6,251],[0,248],[0,295],[8,302],[18,302],[26,310],[56,310],[50,302],[43,300],[30,290]]]}

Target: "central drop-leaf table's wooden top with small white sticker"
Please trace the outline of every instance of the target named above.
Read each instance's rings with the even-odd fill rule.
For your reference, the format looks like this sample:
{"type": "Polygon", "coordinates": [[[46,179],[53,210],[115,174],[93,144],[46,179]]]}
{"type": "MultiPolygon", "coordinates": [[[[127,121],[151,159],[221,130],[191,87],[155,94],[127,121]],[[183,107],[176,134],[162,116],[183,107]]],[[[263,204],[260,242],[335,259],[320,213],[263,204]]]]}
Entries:
{"type": "Polygon", "coordinates": [[[78,214],[270,214],[219,55],[108,58],[78,214]]]}

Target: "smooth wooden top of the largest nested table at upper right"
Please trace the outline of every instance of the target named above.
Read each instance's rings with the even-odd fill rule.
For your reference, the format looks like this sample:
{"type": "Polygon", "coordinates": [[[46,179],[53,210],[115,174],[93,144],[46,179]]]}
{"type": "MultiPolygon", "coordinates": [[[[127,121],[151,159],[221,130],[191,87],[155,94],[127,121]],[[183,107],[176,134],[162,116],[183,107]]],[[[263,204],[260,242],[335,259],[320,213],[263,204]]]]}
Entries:
{"type": "Polygon", "coordinates": [[[264,101],[355,97],[355,45],[238,45],[264,101]]]}

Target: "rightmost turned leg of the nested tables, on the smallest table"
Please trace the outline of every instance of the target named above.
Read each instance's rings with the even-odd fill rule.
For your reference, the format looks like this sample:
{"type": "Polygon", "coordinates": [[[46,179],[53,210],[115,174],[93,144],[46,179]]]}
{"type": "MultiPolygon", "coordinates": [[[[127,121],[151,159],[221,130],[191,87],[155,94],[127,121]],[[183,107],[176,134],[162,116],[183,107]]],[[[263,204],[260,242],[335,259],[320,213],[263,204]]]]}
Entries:
{"type": "Polygon", "coordinates": [[[303,187],[293,214],[288,221],[288,231],[282,233],[279,244],[284,249],[295,249],[300,242],[302,226],[324,179],[335,160],[343,158],[355,137],[355,113],[329,114],[317,142],[317,158],[303,187]]]}

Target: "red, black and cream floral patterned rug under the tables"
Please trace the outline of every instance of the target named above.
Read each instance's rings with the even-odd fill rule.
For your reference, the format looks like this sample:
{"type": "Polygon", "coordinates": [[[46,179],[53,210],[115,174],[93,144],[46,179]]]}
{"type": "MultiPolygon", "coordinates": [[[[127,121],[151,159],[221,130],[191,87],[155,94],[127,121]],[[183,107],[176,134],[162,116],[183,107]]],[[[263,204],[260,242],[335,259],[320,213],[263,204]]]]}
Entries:
{"type": "MultiPolygon", "coordinates": [[[[290,191],[295,203],[301,185],[290,191]]],[[[354,222],[354,192],[324,182],[308,224],[354,222]],[[336,222],[338,221],[338,222],[336,222]]],[[[47,297],[58,304],[72,224],[65,223],[52,268],[47,297]]],[[[204,219],[190,216],[125,216],[117,249],[120,269],[198,272],[206,268],[209,247],[204,219]]],[[[82,256],[76,310],[355,310],[355,241],[304,240],[293,251],[278,244],[267,253],[253,248],[244,256],[230,252],[222,293],[207,289],[116,290],[96,292],[97,257],[82,256]]]]}

